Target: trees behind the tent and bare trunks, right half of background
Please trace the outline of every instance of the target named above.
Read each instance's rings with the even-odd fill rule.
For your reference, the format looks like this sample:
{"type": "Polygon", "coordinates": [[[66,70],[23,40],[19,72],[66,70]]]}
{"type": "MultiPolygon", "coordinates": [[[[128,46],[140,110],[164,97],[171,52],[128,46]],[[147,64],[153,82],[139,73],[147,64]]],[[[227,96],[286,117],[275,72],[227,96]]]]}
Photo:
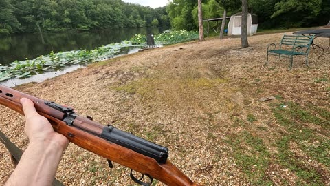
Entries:
{"type": "MultiPolygon", "coordinates": [[[[203,0],[203,19],[241,12],[241,0],[203,0]]],[[[172,28],[197,30],[196,0],[173,0],[166,8],[172,28]]],[[[327,25],[330,0],[249,0],[249,12],[259,17],[259,28],[300,28],[327,25]]],[[[215,26],[215,23],[212,23],[215,26]]]]}

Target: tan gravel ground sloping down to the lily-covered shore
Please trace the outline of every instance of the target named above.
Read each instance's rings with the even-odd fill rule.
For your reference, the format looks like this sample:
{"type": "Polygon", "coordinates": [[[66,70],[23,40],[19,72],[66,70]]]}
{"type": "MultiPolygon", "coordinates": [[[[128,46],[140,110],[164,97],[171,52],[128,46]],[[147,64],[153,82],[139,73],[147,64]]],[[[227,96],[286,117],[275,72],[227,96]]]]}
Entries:
{"type": "MultiPolygon", "coordinates": [[[[248,131],[263,139],[271,154],[277,153],[272,139],[281,136],[282,127],[274,120],[269,105],[258,100],[281,95],[287,101],[329,109],[330,55],[318,59],[322,51],[313,49],[309,68],[303,57],[296,57],[292,71],[287,70],[289,61],[275,56],[270,57],[270,65],[263,66],[267,45],[278,43],[282,36],[249,37],[250,47],[245,49],[240,49],[240,38],[170,45],[15,89],[72,105],[81,116],[93,116],[94,121],[111,123],[168,147],[170,161],[196,183],[255,185],[235,161],[236,151],[228,138],[248,131]],[[323,76],[328,81],[315,83],[323,76]],[[250,125],[236,125],[232,119],[246,118],[250,113],[257,118],[250,125]],[[267,130],[257,130],[261,127],[267,130]]],[[[316,43],[325,46],[329,40],[318,38],[316,43]]],[[[0,106],[0,118],[0,130],[25,149],[28,139],[23,132],[23,117],[0,106]]],[[[294,144],[290,149],[305,156],[294,144]]],[[[0,162],[3,185],[14,169],[3,145],[0,162]]],[[[314,163],[323,167],[322,180],[330,184],[329,167],[314,163]]],[[[276,162],[265,172],[274,185],[292,185],[298,180],[294,172],[276,162]]],[[[129,169],[118,164],[109,169],[104,158],[74,144],[63,154],[56,178],[65,185],[135,184],[129,178],[129,169]]],[[[156,181],[155,185],[162,183],[156,181]]]]}

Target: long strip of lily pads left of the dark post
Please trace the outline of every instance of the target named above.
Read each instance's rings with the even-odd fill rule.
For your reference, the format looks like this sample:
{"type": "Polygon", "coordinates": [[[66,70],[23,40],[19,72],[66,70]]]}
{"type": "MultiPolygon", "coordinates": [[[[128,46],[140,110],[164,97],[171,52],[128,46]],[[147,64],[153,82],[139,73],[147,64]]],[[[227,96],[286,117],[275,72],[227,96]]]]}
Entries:
{"type": "Polygon", "coordinates": [[[36,59],[14,61],[8,66],[0,65],[0,81],[11,78],[26,78],[34,74],[58,70],[69,65],[88,64],[113,58],[120,54],[122,48],[142,48],[142,45],[133,45],[129,41],[103,45],[94,50],[72,50],[39,56],[36,59]]]}

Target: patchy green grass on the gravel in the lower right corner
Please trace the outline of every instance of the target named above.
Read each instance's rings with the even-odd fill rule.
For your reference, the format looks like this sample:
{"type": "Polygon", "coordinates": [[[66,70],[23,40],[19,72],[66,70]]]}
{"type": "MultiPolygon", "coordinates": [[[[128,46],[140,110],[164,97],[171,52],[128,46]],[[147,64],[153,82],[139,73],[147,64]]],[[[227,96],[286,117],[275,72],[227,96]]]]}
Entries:
{"type": "MultiPolygon", "coordinates": [[[[270,109],[281,125],[281,130],[276,132],[280,136],[259,136],[259,132],[265,134],[268,130],[267,127],[256,127],[256,132],[245,130],[229,136],[226,141],[232,147],[232,156],[247,180],[252,185],[274,185],[268,174],[274,164],[294,174],[296,185],[327,185],[325,174],[330,167],[329,110],[293,102],[270,103],[270,109]],[[270,153],[267,147],[275,150],[270,153]],[[322,169],[316,163],[328,168],[322,169]]],[[[248,122],[236,116],[231,119],[233,127],[243,129],[248,127],[248,122],[256,121],[253,114],[248,114],[248,122]]],[[[281,183],[289,185],[290,180],[283,176],[281,183]]]]}

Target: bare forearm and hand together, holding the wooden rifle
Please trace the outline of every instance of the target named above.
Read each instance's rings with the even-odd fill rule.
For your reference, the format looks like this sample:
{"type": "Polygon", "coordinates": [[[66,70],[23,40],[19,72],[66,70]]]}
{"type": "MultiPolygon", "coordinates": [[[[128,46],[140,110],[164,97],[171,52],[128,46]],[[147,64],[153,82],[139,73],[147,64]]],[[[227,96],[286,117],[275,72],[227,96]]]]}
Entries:
{"type": "Polygon", "coordinates": [[[52,185],[69,141],[54,132],[50,122],[36,112],[32,101],[21,99],[21,103],[26,119],[25,133],[30,143],[5,185],[52,185]]]}

